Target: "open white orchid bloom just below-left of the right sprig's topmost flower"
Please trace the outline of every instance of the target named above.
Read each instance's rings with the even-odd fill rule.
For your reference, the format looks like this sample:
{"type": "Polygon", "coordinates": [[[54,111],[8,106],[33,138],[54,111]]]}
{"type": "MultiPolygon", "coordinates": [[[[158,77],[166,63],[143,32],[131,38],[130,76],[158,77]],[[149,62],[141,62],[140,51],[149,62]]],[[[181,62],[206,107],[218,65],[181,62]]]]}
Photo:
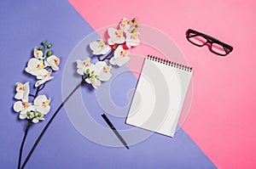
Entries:
{"type": "Polygon", "coordinates": [[[125,37],[124,37],[124,31],[123,30],[117,30],[113,29],[113,27],[108,28],[108,44],[113,45],[113,44],[122,44],[125,42],[125,37]]]}

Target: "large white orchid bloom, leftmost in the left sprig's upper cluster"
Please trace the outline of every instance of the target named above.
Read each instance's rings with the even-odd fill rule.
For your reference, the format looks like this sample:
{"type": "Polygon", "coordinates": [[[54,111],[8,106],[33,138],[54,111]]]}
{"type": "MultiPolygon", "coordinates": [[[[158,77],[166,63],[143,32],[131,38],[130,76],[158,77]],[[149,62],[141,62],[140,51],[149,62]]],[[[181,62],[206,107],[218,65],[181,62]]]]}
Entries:
{"type": "Polygon", "coordinates": [[[42,74],[42,70],[44,71],[44,61],[39,59],[29,59],[27,66],[26,66],[26,72],[32,74],[33,76],[38,76],[42,74]]]}

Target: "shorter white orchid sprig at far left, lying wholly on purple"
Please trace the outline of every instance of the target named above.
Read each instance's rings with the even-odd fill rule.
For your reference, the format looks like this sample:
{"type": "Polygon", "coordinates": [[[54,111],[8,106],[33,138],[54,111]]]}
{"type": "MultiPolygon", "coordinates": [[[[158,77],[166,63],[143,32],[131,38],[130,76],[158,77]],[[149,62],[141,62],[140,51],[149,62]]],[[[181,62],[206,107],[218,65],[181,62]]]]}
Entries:
{"type": "Polygon", "coordinates": [[[49,82],[54,78],[50,76],[51,72],[54,70],[59,70],[58,65],[60,64],[60,59],[55,55],[52,55],[52,51],[49,48],[52,45],[46,44],[44,41],[41,43],[40,48],[33,49],[34,57],[29,59],[25,71],[32,76],[36,76],[37,82],[35,82],[34,87],[36,87],[36,93],[30,93],[30,82],[16,83],[16,93],[15,102],[13,108],[15,112],[19,112],[20,119],[27,120],[25,134],[20,145],[20,155],[18,169],[21,164],[22,150],[26,140],[28,129],[31,127],[32,123],[38,123],[38,121],[44,120],[44,115],[47,115],[50,110],[50,99],[48,99],[44,94],[38,95],[39,92],[44,88],[45,82],[49,82]]]}

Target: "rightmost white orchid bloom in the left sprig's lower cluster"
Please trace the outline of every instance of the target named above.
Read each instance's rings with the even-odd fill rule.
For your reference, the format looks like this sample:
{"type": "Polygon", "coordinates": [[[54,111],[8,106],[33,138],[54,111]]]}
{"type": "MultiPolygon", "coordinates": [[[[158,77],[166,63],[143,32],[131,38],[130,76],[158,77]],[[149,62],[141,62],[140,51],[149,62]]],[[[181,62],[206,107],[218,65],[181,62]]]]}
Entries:
{"type": "Polygon", "coordinates": [[[50,99],[47,99],[45,95],[39,95],[36,99],[34,99],[34,109],[37,112],[46,115],[50,110],[49,102],[50,99]]]}

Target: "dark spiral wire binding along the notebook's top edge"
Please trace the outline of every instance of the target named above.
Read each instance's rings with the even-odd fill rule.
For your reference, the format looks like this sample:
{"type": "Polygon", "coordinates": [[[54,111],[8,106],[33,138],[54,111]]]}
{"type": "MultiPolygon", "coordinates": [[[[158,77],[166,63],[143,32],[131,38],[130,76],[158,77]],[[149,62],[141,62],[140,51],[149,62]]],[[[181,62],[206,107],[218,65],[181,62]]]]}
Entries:
{"type": "Polygon", "coordinates": [[[186,70],[186,71],[189,71],[189,72],[192,71],[192,67],[189,67],[187,65],[177,64],[177,63],[169,61],[167,59],[160,59],[160,58],[158,58],[156,56],[153,56],[153,55],[148,54],[147,59],[153,60],[154,62],[158,62],[160,64],[170,65],[170,66],[175,67],[175,68],[180,69],[180,70],[186,70]]]}

